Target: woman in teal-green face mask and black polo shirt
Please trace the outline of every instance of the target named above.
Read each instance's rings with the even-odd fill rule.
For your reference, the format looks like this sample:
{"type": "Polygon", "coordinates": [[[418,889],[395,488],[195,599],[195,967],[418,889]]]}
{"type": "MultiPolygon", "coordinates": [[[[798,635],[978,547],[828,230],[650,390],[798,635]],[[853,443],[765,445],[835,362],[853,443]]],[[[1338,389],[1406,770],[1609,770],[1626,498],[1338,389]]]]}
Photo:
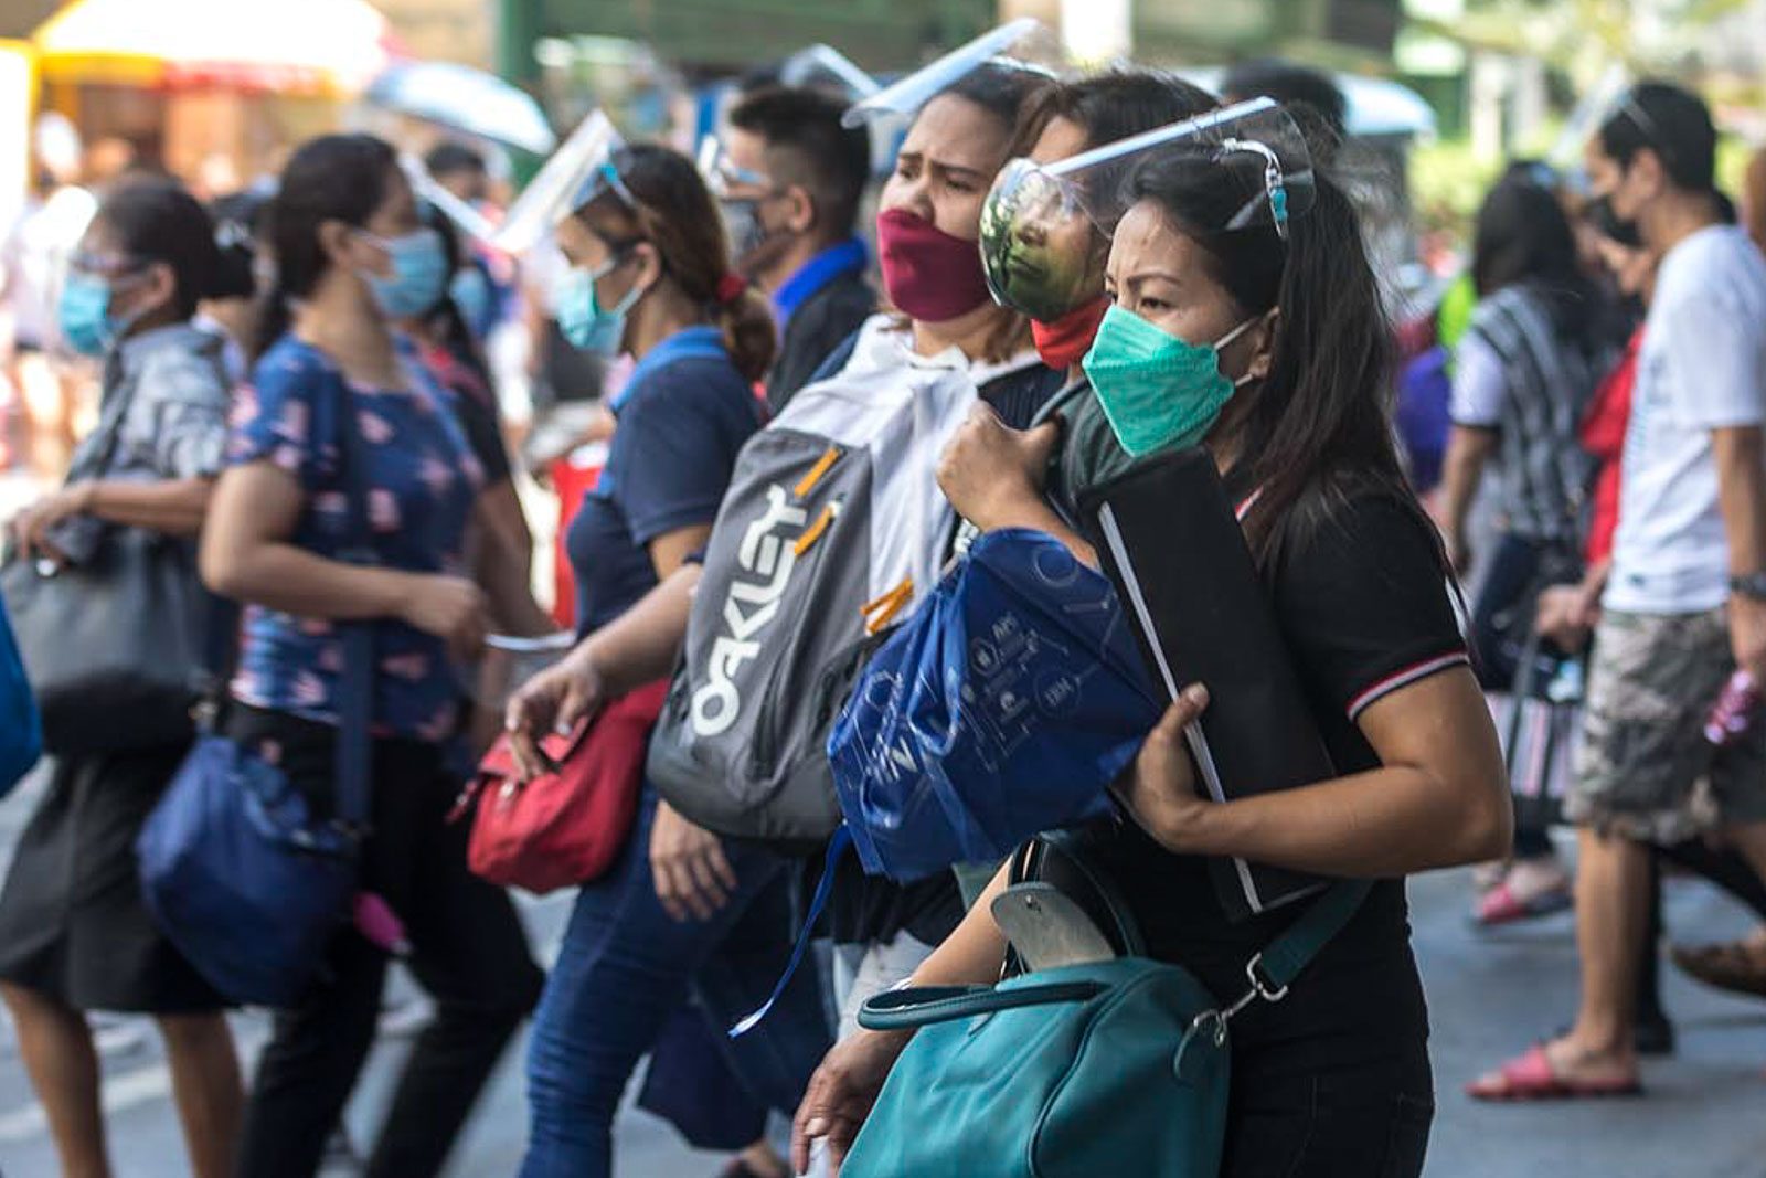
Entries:
{"type": "MultiPolygon", "coordinates": [[[[1134,821],[1084,832],[1141,925],[1148,955],[1217,994],[1305,904],[1229,920],[1208,860],[1245,858],[1372,890],[1280,1003],[1233,1024],[1224,1174],[1415,1176],[1432,1118],[1429,1023],[1409,948],[1404,876],[1501,853],[1510,805],[1489,710],[1468,668],[1441,544],[1399,468],[1386,419],[1390,330],[1355,208],[1330,178],[1256,136],[1148,152],[1127,178],[1084,357],[1128,454],[1199,443],[1243,525],[1339,777],[1208,802],[1183,729],[1206,683],[1171,705],[1120,782],[1134,821]],[[1305,180],[1302,193],[1291,180],[1305,180]],[[1247,194],[1252,205],[1247,205],[1247,194]],[[1256,207],[1256,215],[1241,215],[1256,207]]],[[[1042,495],[1045,445],[977,413],[941,484],[984,530],[1040,528],[1095,563],[1042,495]]],[[[1083,906],[1084,880],[1045,876],[1083,906]]],[[[989,906],[915,985],[1000,977],[989,906]]],[[[800,1134],[844,1150],[906,1047],[865,1031],[830,1056],[800,1134]]]]}

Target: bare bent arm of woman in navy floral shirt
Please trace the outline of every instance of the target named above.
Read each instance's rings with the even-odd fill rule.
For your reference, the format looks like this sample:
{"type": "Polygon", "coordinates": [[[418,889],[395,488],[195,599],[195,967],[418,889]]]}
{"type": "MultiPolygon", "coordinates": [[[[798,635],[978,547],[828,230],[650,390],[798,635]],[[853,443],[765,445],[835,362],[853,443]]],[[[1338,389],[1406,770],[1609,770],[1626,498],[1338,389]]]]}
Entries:
{"type": "Polygon", "coordinates": [[[268,461],[221,475],[200,553],[208,588],[304,618],[397,618],[447,638],[459,653],[482,645],[479,586],[464,578],[350,565],[291,544],[304,505],[295,475],[268,461]]]}

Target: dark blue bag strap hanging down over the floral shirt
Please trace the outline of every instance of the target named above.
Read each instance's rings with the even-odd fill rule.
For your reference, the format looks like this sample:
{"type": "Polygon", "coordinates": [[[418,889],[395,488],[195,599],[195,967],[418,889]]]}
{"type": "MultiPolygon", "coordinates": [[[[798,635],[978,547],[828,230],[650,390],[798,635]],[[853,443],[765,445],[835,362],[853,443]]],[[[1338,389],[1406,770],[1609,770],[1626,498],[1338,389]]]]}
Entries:
{"type": "MultiPolygon", "coordinates": [[[[346,503],[346,546],[337,553],[337,560],[373,565],[378,558],[367,517],[367,450],[360,431],[353,429],[350,420],[355,394],[341,373],[330,374],[330,385],[337,406],[337,475],[346,503]]],[[[343,676],[337,683],[337,819],[351,832],[364,834],[371,814],[374,622],[341,622],[337,627],[343,632],[343,676]]]]}

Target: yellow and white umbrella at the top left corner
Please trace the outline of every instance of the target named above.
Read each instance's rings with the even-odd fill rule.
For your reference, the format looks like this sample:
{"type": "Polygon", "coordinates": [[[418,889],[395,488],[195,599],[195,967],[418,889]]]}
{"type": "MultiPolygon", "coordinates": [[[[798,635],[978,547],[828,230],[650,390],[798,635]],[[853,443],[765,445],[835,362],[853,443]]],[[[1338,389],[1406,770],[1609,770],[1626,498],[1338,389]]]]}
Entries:
{"type": "Polygon", "coordinates": [[[397,57],[364,0],[76,0],[32,37],[53,81],[357,94],[397,57]]]}

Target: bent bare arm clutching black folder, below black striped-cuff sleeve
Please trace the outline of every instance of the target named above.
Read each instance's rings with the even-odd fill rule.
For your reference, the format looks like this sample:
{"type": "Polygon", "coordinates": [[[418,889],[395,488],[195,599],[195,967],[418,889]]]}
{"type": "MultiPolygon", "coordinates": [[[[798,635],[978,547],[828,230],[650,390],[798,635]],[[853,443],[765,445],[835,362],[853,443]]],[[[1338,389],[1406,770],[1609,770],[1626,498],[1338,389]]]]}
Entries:
{"type": "Polygon", "coordinates": [[[1508,853],[1508,777],[1489,705],[1466,668],[1400,687],[1362,714],[1381,768],[1231,802],[1197,793],[1183,744],[1183,728],[1206,705],[1206,691],[1187,689],[1121,784],[1136,819],[1174,855],[1379,880],[1508,853]]]}

